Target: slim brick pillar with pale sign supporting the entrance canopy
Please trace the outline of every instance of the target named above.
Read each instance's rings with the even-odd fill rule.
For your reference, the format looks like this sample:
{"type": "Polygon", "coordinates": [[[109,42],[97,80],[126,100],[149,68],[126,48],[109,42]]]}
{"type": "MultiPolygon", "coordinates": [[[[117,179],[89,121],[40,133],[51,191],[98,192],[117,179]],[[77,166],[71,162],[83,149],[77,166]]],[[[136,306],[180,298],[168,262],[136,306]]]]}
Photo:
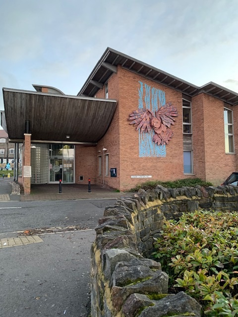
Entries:
{"type": "Polygon", "coordinates": [[[31,134],[24,133],[24,166],[23,166],[23,187],[24,195],[31,193],[31,134]]]}

